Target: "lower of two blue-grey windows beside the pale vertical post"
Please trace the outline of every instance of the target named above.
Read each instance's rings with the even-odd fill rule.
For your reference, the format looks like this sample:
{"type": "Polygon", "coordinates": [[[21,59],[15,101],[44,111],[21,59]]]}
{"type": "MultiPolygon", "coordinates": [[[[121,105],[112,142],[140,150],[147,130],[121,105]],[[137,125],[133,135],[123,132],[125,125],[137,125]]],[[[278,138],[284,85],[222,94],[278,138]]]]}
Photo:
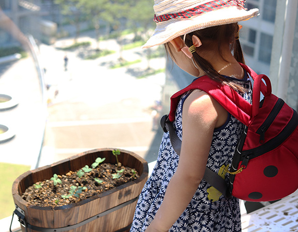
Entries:
{"type": "Polygon", "coordinates": [[[261,33],[259,61],[270,64],[273,36],[261,33]]]}

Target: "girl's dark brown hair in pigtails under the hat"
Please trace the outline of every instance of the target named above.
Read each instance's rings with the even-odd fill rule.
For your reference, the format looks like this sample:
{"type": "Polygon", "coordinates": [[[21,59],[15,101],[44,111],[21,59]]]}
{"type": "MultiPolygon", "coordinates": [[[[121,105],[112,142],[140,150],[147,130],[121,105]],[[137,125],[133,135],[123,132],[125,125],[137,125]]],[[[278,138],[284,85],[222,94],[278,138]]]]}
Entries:
{"type": "MultiPolygon", "coordinates": [[[[222,59],[224,59],[223,53],[222,53],[222,47],[226,46],[227,44],[230,44],[230,49],[231,51],[233,51],[236,61],[240,63],[245,63],[241,45],[239,42],[238,31],[239,31],[238,23],[209,27],[209,28],[188,33],[185,38],[185,44],[188,47],[193,45],[192,35],[196,35],[200,38],[200,40],[202,41],[202,45],[200,46],[200,49],[202,49],[203,51],[204,51],[204,47],[212,46],[214,45],[214,42],[216,42],[216,44],[218,45],[217,49],[222,59]],[[212,43],[212,45],[210,45],[210,42],[212,43]]],[[[171,57],[174,59],[173,53],[171,52],[169,45],[165,44],[165,47],[167,52],[169,52],[171,54],[171,57]]],[[[220,83],[227,84],[237,90],[240,90],[240,91],[242,90],[241,86],[238,86],[237,84],[235,84],[235,82],[232,82],[222,77],[213,68],[212,64],[206,61],[197,52],[192,53],[192,55],[193,55],[194,61],[203,69],[203,71],[206,73],[208,77],[215,79],[220,83]]]]}

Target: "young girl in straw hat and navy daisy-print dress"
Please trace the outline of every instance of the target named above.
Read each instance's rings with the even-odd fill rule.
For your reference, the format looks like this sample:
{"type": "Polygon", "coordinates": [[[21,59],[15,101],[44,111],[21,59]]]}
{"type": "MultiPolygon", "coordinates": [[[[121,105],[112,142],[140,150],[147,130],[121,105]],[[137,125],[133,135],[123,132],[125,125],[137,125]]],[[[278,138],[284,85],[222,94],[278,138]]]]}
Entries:
{"type": "MultiPolygon", "coordinates": [[[[247,11],[244,2],[155,0],[157,29],[143,47],[165,44],[180,68],[229,85],[250,101],[251,82],[238,63],[244,61],[237,22],[258,9],[247,11]]],[[[193,90],[181,96],[173,126],[182,140],[180,156],[164,133],[130,231],[241,232],[238,199],[210,199],[203,176],[206,166],[218,173],[231,164],[243,124],[209,94],[193,90]]]]}

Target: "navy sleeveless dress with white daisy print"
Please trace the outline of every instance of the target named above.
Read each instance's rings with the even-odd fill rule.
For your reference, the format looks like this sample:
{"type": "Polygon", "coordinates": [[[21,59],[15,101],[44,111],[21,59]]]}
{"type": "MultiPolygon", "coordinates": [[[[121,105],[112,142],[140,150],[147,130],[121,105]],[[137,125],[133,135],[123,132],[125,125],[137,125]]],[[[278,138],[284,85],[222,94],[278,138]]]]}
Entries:
{"type": "MultiPolygon", "coordinates": [[[[247,90],[242,94],[243,97],[251,102],[251,81],[247,76],[246,74],[242,80],[226,78],[231,78],[242,85],[247,90]]],[[[181,140],[182,108],[189,93],[181,96],[173,122],[176,134],[181,140]]],[[[222,165],[231,164],[242,131],[243,124],[229,114],[226,123],[214,130],[207,160],[208,168],[218,173],[222,165]]],[[[169,132],[164,133],[156,166],[141,192],[130,232],[143,232],[149,226],[163,201],[178,162],[179,156],[173,150],[169,132]]],[[[228,174],[225,175],[225,180],[228,182],[228,174]]],[[[202,180],[192,200],[171,227],[170,232],[241,232],[239,200],[235,197],[226,199],[220,196],[218,201],[210,201],[207,193],[209,187],[211,186],[202,180]]]]}

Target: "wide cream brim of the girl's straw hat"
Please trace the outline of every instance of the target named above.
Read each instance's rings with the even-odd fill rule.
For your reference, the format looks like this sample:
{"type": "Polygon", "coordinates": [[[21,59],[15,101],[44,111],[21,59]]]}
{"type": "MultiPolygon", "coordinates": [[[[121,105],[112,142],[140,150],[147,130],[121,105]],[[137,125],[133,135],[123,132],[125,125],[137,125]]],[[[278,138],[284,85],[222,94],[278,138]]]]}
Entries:
{"type": "Polygon", "coordinates": [[[187,19],[176,18],[159,22],[153,35],[142,48],[165,44],[180,35],[188,34],[192,31],[245,21],[257,16],[258,12],[258,9],[247,11],[240,7],[231,6],[187,19]]]}

